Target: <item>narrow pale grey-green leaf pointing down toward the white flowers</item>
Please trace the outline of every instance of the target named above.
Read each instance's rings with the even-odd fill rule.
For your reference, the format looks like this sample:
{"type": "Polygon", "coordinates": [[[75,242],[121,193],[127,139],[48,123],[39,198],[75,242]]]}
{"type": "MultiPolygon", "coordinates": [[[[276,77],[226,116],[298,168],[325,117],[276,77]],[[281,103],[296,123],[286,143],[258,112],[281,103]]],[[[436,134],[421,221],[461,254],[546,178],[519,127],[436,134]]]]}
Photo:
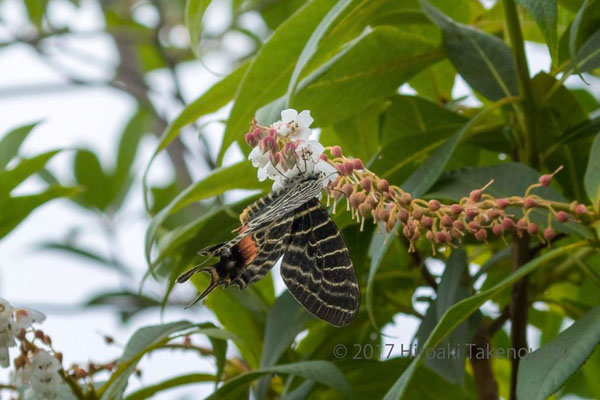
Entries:
{"type": "Polygon", "coordinates": [[[289,107],[292,96],[296,90],[296,85],[298,84],[298,79],[300,78],[300,74],[302,70],[306,67],[312,56],[317,52],[317,48],[319,46],[319,41],[325,35],[325,32],[331,24],[339,17],[339,15],[352,3],[352,0],[339,0],[325,15],[325,17],[319,22],[319,25],[315,28],[312,35],[304,45],[300,56],[298,56],[298,62],[292,71],[292,76],[290,78],[290,82],[288,84],[287,93],[285,95],[285,106],[289,107]]]}

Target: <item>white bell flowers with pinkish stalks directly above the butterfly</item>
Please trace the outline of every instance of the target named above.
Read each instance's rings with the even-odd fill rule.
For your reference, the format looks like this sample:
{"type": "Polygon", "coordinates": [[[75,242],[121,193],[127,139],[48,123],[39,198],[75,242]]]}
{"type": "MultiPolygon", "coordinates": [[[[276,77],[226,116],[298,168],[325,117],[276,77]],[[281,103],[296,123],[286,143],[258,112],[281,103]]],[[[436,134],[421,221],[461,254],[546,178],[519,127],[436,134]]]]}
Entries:
{"type": "Polygon", "coordinates": [[[248,159],[258,168],[261,182],[267,178],[275,181],[273,190],[278,191],[299,175],[322,177],[323,187],[337,179],[335,167],[327,161],[323,145],[310,129],[313,121],[308,110],[298,113],[288,109],[268,129],[257,127],[246,134],[246,142],[254,147],[248,159]]]}

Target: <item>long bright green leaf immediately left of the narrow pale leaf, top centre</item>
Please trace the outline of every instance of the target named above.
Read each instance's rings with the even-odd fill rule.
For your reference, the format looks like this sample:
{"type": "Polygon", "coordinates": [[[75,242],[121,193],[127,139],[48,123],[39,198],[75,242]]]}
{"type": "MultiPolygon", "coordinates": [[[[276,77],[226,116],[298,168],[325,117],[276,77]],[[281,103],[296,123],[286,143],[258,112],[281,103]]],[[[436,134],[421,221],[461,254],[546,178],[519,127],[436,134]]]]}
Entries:
{"type": "Polygon", "coordinates": [[[263,45],[238,88],[225,128],[219,163],[225,151],[240,141],[256,110],[285,92],[298,55],[333,0],[305,3],[284,21],[263,45]]]}

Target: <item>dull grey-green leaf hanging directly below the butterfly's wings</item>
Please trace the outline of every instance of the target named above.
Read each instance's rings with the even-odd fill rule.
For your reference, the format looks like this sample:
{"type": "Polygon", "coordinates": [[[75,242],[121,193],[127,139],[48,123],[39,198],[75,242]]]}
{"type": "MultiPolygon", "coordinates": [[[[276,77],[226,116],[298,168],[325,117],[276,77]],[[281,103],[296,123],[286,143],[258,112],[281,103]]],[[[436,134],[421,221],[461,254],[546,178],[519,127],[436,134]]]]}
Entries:
{"type": "MultiPolygon", "coordinates": [[[[267,314],[260,368],[277,364],[281,355],[290,347],[306,324],[315,320],[315,317],[306,312],[290,292],[284,291],[267,314]]],[[[267,377],[261,379],[257,398],[266,396],[269,383],[270,379],[267,377]]]]}

